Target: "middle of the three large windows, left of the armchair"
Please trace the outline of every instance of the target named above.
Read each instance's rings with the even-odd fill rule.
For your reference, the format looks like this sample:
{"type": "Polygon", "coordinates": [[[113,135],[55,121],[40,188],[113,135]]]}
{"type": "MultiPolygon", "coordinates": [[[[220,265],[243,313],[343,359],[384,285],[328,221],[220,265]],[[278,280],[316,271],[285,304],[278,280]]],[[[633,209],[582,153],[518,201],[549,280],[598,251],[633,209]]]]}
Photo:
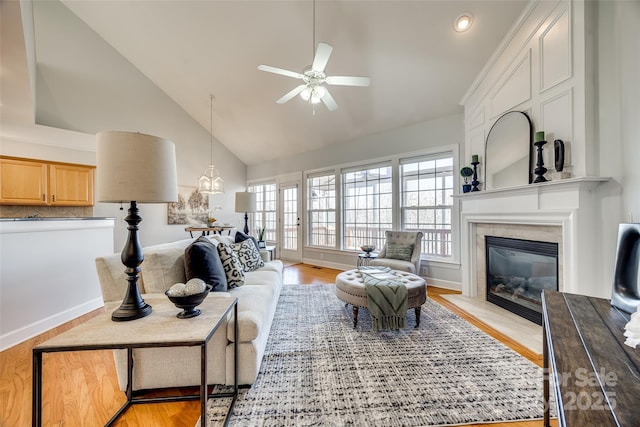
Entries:
{"type": "Polygon", "coordinates": [[[384,232],[393,227],[393,194],[389,164],[342,172],[343,249],[384,245],[384,232]]]}

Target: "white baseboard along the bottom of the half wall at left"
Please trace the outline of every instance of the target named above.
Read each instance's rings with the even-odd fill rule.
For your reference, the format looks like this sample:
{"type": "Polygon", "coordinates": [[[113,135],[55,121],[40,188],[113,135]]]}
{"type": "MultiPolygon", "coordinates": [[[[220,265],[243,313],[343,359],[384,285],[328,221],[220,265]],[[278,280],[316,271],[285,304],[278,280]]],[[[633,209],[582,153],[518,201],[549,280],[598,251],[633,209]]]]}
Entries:
{"type": "Polygon", "coordinates": [[[0,336],[0,351],[4,351],[14,345],[20,344],[30,338],[42,334],[56,326],[60,326],[76,317],[87,314],[93,310],[104,307],[102,298],[96,298],[91,301],[87,301],[84,304],[72,307],[60,313],[56,313],[53,316],[38,320],[29,325],[23,326],[20,329],[7,332],[0,336]]]}

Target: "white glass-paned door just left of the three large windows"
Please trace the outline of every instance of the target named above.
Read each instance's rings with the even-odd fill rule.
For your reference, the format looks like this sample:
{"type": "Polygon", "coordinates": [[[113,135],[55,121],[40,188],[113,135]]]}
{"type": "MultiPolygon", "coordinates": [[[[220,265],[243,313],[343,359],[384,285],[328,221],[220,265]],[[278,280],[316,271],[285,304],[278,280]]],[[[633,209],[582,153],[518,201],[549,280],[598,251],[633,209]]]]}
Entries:
{"type": "Polygon", "coordinates": [[[299,182],[280,184],[280,257],[291,261],[302,261],[301,197],[299,182]]]}

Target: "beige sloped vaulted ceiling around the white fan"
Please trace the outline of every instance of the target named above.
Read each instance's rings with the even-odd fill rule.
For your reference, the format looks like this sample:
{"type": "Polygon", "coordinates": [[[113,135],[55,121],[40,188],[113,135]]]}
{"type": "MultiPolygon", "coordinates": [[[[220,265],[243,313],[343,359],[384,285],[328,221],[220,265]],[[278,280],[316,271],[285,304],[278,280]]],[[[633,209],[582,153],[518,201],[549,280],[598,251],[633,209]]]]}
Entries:
{"type": "MultiPolygon", "coordinates": [[[[460,113],[460,100],[526,6],[510,1],[62,0],[248,165],[460,113]],[[472,27],[454,31],[455,18],[472,27]],[[315,34],[314,34],[315,27],[315,34]],[[315,39],[315,44],[314,44],[315,39]],[[370,87],[331,86],[338,109],[300,97],[317,43],[334,50],[330,75],[369,76],[370,87]]],[[[37,40],[36,40],[37,42],[37,40]]]]}

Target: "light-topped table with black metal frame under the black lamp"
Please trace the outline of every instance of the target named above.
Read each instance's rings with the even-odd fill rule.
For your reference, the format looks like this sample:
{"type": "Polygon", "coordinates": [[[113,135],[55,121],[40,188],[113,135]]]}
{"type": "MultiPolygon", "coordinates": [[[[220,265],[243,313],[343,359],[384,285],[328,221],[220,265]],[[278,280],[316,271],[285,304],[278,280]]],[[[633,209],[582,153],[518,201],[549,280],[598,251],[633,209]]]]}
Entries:
{"type": "Polygon", "coordinates": [[[42,425],[42,359],[44,353],[62,351],[86,351],[105,349],[127,350],[127,401],[105,424],[112,425],[131,405],[139,403],[176,402],[182,400],[200,400],[201,419],[206,424],[207,398],[232,397],[225,418],[225,425],[238,397],[238,322],[234,328],[234,386],[233,392],[207,393],[207,343],[215,331],[223,325],[233,312],[238,316],[237,298],[206,298],[198,306],[202,311],[191,319],[178,319],[180,309],[163,294],[148,294],[145,302],[153,307],[147,317],[128,322],[114,322],[111,312],[120,302],[105,304],[106,311],[93,319],[76,326],[62,334],[45,341],[33,349],[33,407],[32,425],[42,425]],[[153,347],[200,347],[200,394],[190,396],[169,396],[162,398],[135,398],[133,396],[133,349],[153,347]]]}

